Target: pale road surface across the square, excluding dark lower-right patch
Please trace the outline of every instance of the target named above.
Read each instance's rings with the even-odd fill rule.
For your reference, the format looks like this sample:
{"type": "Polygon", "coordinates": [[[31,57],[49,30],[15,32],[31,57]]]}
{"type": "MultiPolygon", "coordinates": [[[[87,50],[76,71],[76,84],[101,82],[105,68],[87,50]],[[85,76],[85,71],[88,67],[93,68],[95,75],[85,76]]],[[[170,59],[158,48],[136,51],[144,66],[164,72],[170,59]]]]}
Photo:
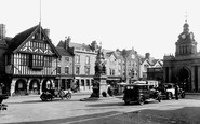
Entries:
{"type": "MultiPolygon", "coordinates": [[[[9,110],[0,112],[0,123],[93,124],[95,122],[96,124],[109,124],[110,122],[116,122],[116,124],[120,124],[124,123],[124,119],[130,120],[128,113],[143,113],[143,110],[147,109],[158,112],[191,108],[190,110],[194,109],[194,111],[182,110],[182,112],[187,111],[184,112],[185,116],[187,119],[198,119],[197,116],[200,116],[200,97],[198,95],[188,95],[185,99],[179,100],[163,100],[160,104],[150,101],[144,106],[125,106],[121,97],[80,101],[81,98],[89,96],[90,94],[75,94],[70,100],[54,99],[49,102],[41,101],[39,96],[11,97],[4,101],[4,104],[9,105],[9,110]],[[192,112],[195,111],[196,113],[194,114],[192,112]]],[[[125,123],[132,123],[126,120],[125,123]]]]}

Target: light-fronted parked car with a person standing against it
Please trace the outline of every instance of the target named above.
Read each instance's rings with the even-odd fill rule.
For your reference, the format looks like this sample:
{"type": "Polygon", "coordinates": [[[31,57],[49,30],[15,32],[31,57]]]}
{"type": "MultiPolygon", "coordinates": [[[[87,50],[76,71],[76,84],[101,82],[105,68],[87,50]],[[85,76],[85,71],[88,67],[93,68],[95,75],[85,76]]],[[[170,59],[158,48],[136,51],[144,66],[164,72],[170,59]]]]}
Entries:
{"type": "MultiPolygon", "coordinates": [[[[159,85],[161,97],[164,99],[175,98],[175,84],[174,83],[161,83],[159,85]]],[[[185,91],[178,88],[178,97],[185,98],[185,91]]]]}

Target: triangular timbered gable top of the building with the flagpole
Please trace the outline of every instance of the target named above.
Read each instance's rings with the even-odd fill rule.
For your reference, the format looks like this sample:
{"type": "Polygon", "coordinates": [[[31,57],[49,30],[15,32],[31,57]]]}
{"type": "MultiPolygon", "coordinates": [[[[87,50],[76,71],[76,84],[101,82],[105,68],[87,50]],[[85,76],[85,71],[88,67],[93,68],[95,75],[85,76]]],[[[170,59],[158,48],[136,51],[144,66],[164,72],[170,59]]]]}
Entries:
{"type": "MultiPolygon", "coordinates": [[[[24,31],[24,38],[21,38],[22,35],[18,35],[18,46],[13,51],[13,53],[25,52],[25,53],[37,53],[45,55],[57,55],[59,54],[56,51],[55,46],[52,44],[51,40],[45,35],[44,30],[40,25],[35,27],[32,30],[24,31]]],[[[22,36],[23,37],[23,36],[22,36]]],[[[14,38],[14,42],[16,38],[14,38]]]]}

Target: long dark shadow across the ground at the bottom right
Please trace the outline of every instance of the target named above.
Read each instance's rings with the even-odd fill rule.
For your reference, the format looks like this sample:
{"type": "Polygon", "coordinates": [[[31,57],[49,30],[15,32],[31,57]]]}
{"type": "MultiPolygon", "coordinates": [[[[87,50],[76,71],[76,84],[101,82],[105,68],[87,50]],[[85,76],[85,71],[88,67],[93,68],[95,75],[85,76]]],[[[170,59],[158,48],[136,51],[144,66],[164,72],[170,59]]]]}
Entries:
{"type": "Polygon", "coordinates": [[[199,115],[200,107],[185,107],[174,110],[146,109],[128,113],[111,111],[101,114],[10,124],[200,124],[199,115]]]}

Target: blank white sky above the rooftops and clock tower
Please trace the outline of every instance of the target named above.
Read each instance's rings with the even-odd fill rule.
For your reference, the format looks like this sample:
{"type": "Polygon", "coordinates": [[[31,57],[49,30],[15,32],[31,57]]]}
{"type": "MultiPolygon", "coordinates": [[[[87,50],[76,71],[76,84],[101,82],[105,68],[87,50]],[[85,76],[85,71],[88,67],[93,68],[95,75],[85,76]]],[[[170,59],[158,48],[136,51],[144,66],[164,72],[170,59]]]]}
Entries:
{"type": "Polygon", "coordinates": [[[139,55],[150,53],[162,59],[175,53],[186,18],[200,42],[198,0],[41,0],[41,11],[40,0],[0,3],[0,24],[5,24],[6,37],[38,25],[41,15],[41,25],[50,29],[55,46],[70,36],[71,42],[96,41],[103,49],[134,49],[139,55]]]}

